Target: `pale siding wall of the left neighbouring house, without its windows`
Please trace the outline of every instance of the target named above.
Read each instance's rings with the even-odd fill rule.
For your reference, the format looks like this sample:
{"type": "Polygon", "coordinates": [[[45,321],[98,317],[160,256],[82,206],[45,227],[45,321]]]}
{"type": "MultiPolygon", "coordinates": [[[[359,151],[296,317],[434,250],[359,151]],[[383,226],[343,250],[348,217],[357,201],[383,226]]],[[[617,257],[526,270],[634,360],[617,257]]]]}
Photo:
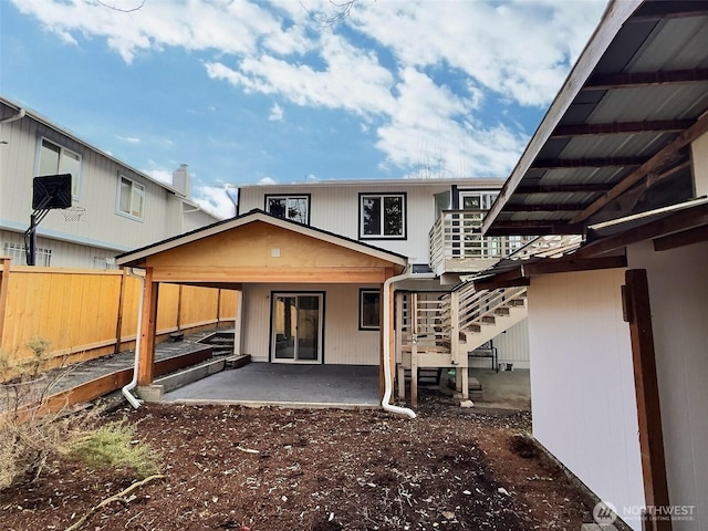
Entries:
{"type": "MultiPolygon", "coordinates": [[[[15,114],[0,102],[0,117],[15,114]]],[[[9,233],[28,229],[32,214],[32,179],[38,174],[39,146],[42,138],[81,155],[81,176],[73,205],[85,208],[79,221],[65,221],[61,211],[50,211],[38,227],[38,237],[52,250],[52,266],[92,268],[93,259],[85,260],[82,247],[110,250],[111,256],[149,244],[211,223],[216,218],[183,214],[183,199],[156,183],[105,154],[83,144],[58,128],[34,119],[30,113],[15,122],[0,125],[0,252],[9,233]],[[145,187],[144,217],[140,220],[117,212],[119,175],[145,187]],[[173,214],[174,210],[174,214],[173,214]],[[191,216],[188,227],[181,219],[191,216]],[[62,242],[72,243],[65,246],[62,242]],[[65,257],[65,252],[76,252],[65,257]]],[[[76,179],[76,176],[74,176],[76,179]]],[[[93,256],[90,251],[87,254],[93,256]]]]}

